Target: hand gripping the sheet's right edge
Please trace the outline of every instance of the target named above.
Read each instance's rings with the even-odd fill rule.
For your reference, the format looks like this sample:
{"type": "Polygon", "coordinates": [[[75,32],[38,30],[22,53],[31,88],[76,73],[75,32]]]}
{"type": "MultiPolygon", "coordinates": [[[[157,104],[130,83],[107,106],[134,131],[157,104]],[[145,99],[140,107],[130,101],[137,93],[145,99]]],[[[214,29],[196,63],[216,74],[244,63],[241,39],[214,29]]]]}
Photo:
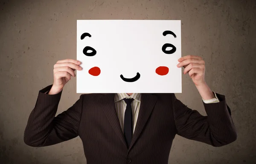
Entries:
{"type": "Polygon", "coordinates": [[[184,67],[183,74],[188,73],[196,86],[204,85],[205,62],[203,58],[194,55],[187,55],[178,59],[177,67],[184,67]]]}

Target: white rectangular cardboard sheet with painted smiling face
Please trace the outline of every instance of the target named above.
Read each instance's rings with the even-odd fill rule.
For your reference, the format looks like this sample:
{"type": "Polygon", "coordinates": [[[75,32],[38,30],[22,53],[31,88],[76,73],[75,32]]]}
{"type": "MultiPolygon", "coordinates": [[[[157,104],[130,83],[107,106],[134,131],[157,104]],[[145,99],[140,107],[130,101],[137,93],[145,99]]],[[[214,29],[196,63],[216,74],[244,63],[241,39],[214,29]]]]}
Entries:
{"type": "Polygon", "coordinates": [[[76,92],[181,93],[180,57],[180,20],[77,20],[76,92]]]}

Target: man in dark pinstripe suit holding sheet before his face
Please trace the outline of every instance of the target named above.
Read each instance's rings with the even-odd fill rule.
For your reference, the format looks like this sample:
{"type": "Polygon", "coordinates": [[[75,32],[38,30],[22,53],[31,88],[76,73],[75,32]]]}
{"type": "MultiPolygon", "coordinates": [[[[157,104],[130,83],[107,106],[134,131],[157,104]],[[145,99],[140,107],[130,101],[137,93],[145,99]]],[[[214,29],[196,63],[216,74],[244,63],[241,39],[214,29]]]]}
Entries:
{"type": "Polygon", "coordinates": [[[52,85],[41,89],[29,115],[24,142],[32,147],[58,144],[79,136],[87,164],[168,164],[175,135],[221,147],[236,140],[224,95],[204,80],[205,63],[188,55],[178,60],[202,97],[207,116],[192,110],[174,93],[83,94],[55,117],[64,85],[81,62],[59,60],[52,85]]]}

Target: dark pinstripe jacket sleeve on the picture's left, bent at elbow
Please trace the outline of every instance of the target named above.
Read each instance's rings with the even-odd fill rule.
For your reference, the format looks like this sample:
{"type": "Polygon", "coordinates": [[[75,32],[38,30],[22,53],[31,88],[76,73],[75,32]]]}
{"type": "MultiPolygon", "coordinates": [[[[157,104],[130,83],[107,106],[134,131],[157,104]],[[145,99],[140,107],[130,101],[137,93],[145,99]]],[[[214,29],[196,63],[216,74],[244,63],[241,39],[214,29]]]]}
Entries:
{"type": "Polygon", "coordinates": [[[55,117],[62,91],[55,95],[45,94],[51,87],[49,85],[39,91],[35,107],[29,115],[24,132],[24,142],[29,146],[49,146],[78,136],[83,95],[73,106],[55,117]]]}

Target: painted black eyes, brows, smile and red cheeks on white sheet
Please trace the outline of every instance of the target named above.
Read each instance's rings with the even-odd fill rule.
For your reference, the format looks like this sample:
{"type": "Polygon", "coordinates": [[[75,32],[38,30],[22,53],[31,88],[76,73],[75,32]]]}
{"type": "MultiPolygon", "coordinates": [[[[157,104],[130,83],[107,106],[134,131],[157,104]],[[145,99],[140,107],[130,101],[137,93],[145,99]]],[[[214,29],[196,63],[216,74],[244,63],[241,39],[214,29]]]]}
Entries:
{"type": "MultiPolygon", "coordinates": [[[[172,35],[172,36],[175,37],[175,38],[177,37],[174,32],[169,31],[169,30],[163,32],[163,36],[166,36],[166,35],[172,35]]],[[[91,36],[89,33],[85,32],[85,33],[83,33],[83,34],[81,35],[81,40],[83,40],[85,37],[92,37],[92,36],[91,36]]],[[[173,44],[171,44],[171,43],[165,43],[165,44],[162,46],[162,51],[163,51],[165,54],[173,54],[173,53],[175,53],[175,51],[176,51],[176,47],[175,47],[173,44]],[[166,50],[166,49],[169,48],[169,47],[172,48],[172,49],[166,50]]],[[[97,53],[97,51],[96,51],[94,48],[90,47],[90,46],[85,46],[84,49],[83,49],[83,54],[86,55],[86,56],[92,57],[92,56],[96,55],[96,53],[97,53]],[[91,51],[91,52],[88,52],[88,51],[91,51]]],[[[159,67],[157,67],[157,69],[155,70],[155,72],[156,72],[158,75],[161,75],[161,76],[167,75],[167,74],[169,73],[169,68],[166,67],[166,66],[159,66],[159,67]]],[[[93,75],[93,76],[99,76],[100,73],[101,73],[101,70],[100,70],[99,67],[95,66],[95,67],[89,69],[88,73],[89,73],[90,75],[93,75]]],[[[121,75],[120,75],[120,78],[121,78],[123,81],[125,81],[125,82],[135,82],[135,81],[137,81],[137,80],[140,79],[140,73],[137,72],[136,76],[134,76],[133,78],[125,78],[125,77],[121,74],[121,75]]]]}

